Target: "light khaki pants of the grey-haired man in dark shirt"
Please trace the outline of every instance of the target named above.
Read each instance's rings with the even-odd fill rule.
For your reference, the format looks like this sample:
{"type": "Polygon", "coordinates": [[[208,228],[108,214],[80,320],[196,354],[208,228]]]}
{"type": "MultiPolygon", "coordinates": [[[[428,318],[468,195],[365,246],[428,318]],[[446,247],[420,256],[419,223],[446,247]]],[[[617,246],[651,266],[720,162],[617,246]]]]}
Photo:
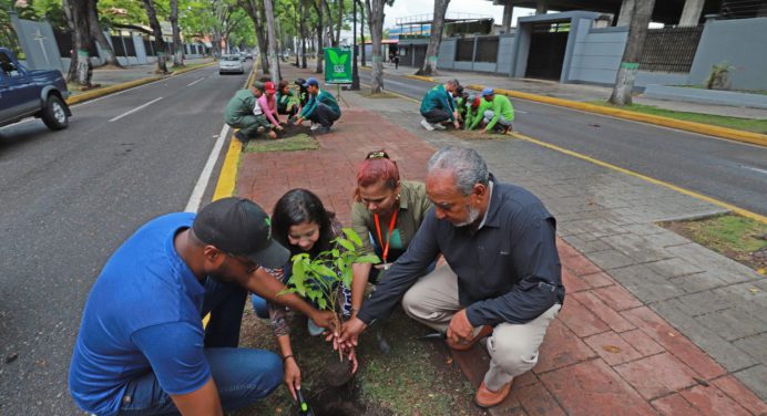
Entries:
{"type": "MultiPolygon", "coordinates": [[[[410,318],[447,332],[456,312],[463,309],[458,303],[458,277],[449,266],[443,266],[422,277],[402,298],[402,308],[410,318]]],[[[561,305],[555,304],[536,319],[523,324],[495,325],[488,339],[490,370],[484,375],[489,389],[499,391],[512,377],[521,375],[538,363],[538,349],[543,342],[549,323],[561,305]]],[[[475,329],[479,331],[479,327],[475,329]]]]}

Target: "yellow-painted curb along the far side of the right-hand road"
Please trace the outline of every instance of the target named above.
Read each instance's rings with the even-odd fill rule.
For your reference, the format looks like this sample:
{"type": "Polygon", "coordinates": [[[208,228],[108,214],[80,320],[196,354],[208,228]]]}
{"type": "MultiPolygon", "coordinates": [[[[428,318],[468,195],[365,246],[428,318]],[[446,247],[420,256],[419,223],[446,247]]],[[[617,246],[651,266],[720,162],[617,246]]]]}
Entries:
{"type": "MultiPolygon", "coordinates": [[[[477,91],[482,91],[484,89],[484,86],[478,85],[478,84],[469,84],[466,87],[470,89],[470,90],[477,90],[477,91]]],[[[534,101],[534,102],[539,102],[539,103],[556,105],[556,106],[561,106],[561,107],[574,108],[574,110],[585,111],[589,113],[604,114],[604,115],[610,115],[610,116],[618,117],[618,118],[626,118],[626,119],[631,119],[631,121],[635,121],[635,122],[655,124],[655,125],[659,125],[659,126],[664,126],[664,127],[671,127],[671,128],[676,128],[676,129],[681,129],[681,131],[685,131],[685,132],[692,132],[692,133],[699,133],[699,134],[705,134],[708,136],[727,138],[730,141],[749,143],[749,144],[754,144],[754,145],[758,145],[758,146],[767,146],[767,135],[765,135],[765,134],[743,132],[743,131],[738,131],[738,129],[734,129],[734,128],[712,126],[708,124],[685,122],[682,119],[674,119],[674,118],[662,117],[662,116],[657,116],[657,115],[642,114],[642,113],[636,113],[636,112],[632,112],[632,111],[627,111],[627,110],[603,107],[603,106],[595,105],[595,104],[580,103],[576,101],[570,101],[570,100],[544,96],[544,95],[522,93],[522,92],[518,92],[518,91],[510,91],[510,90],[503,90],[503,89],[494,89],[494,90],[495,90],[495,92],[498,92],[500,94],[517,97],[517,98],[529,100],[529,101],[534,101]]]]}

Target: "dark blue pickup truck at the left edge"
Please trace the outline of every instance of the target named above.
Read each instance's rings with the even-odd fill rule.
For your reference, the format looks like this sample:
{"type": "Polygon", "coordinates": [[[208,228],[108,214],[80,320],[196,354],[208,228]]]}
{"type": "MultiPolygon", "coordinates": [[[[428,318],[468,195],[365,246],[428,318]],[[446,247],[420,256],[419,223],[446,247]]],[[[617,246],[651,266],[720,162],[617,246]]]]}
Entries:
{"type": "Polygon", "coordinates": [[[34,116],[50,129],[67,128],[72,115],[68,96],[61,71],[30,71],[0,48],[0,127],[34,116]]]}

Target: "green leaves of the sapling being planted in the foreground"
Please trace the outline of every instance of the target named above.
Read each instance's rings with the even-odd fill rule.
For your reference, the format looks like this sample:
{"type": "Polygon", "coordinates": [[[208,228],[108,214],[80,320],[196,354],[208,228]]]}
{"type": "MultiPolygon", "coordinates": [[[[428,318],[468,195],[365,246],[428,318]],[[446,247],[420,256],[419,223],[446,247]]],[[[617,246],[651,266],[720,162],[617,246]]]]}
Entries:
{"type": "Polygon", "coordinates": [[[352,264],[380,262],[378,256],[361,256],[357,251],[362,240],[352,229],[344,228],[342,231],[342,236],[333,240],[329,250],[314,258],[308,253],[293,257],[293,274],[287,291],[313,301],[321,310],[338,312],[340,299],[337,288],[341,284],[351,288],[352,264]]]}

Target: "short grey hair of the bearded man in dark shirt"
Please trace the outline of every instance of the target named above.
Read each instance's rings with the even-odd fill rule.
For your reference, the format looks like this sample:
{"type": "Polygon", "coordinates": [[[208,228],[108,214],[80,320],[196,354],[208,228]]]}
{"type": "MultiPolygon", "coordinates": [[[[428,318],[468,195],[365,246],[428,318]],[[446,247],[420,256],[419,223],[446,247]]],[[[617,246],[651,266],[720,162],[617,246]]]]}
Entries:
{"type": "Polygon", "coordinates": [[[456,187],[463,195],[471,194],[474,185],[488,185],[488,165],[474,149],[444,147],[431,156],[426,166],[427,175],[436,169],[447,169],[456,176],[456,187]]]}

